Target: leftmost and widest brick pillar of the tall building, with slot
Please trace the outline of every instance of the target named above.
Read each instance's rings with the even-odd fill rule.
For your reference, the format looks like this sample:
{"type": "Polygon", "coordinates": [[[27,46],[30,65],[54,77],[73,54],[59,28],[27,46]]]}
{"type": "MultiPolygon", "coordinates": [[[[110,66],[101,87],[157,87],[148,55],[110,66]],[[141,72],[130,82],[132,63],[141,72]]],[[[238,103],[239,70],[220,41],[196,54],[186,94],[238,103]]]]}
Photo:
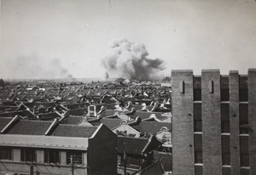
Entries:
{"type": "Polygon", "coordinates": [[[172,71],[173,174],[195,174],[193,145],[193,71],[172,71]]]}

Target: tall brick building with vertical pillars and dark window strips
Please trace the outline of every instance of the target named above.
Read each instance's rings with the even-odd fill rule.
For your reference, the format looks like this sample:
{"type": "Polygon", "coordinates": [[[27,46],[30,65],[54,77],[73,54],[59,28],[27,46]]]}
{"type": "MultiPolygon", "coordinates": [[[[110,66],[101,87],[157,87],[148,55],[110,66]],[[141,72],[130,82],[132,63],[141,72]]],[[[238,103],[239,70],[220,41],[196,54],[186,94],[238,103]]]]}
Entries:
{"type": "Polygon", "coordinates": [[[172,71],[174,175],[256,174],[256,70],[172,71]]]}

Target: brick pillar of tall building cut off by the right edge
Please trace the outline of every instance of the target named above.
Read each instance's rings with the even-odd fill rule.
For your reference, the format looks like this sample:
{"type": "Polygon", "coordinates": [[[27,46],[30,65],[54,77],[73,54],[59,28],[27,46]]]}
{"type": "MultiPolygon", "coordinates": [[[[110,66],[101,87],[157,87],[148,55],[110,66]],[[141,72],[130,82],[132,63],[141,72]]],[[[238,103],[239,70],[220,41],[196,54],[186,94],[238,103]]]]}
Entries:
{"type": "Polygon", "coordinates": [[[250,174],[256,174],[256,69],[248,70],[248,124],[250,174]]]}

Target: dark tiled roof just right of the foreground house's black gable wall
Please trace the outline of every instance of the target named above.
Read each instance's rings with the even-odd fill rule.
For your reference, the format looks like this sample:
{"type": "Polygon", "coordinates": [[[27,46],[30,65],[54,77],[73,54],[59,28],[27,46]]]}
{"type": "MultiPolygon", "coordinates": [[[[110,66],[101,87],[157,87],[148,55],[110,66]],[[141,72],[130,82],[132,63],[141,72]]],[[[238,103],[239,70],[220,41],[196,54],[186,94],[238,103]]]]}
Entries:
{"type": "Polygon", "coordinates": [[[142,155],[148,144],[148,138],[129,138],[119,136],[117,139],[117,150],[119,154],[142,155]]]}

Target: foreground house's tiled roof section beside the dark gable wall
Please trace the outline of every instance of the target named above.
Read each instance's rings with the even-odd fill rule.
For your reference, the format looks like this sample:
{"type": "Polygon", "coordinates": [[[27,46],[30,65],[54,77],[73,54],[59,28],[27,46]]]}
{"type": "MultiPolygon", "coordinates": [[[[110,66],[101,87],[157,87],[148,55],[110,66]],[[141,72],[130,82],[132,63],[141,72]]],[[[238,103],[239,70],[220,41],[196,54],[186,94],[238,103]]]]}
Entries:
{"type": "Polygon", "coordinates": [[[61,137],[90,138],[96,129],[97,127],[82,127],[78,125],[61,124],[55,128],[52,135],[61,137]]]}

